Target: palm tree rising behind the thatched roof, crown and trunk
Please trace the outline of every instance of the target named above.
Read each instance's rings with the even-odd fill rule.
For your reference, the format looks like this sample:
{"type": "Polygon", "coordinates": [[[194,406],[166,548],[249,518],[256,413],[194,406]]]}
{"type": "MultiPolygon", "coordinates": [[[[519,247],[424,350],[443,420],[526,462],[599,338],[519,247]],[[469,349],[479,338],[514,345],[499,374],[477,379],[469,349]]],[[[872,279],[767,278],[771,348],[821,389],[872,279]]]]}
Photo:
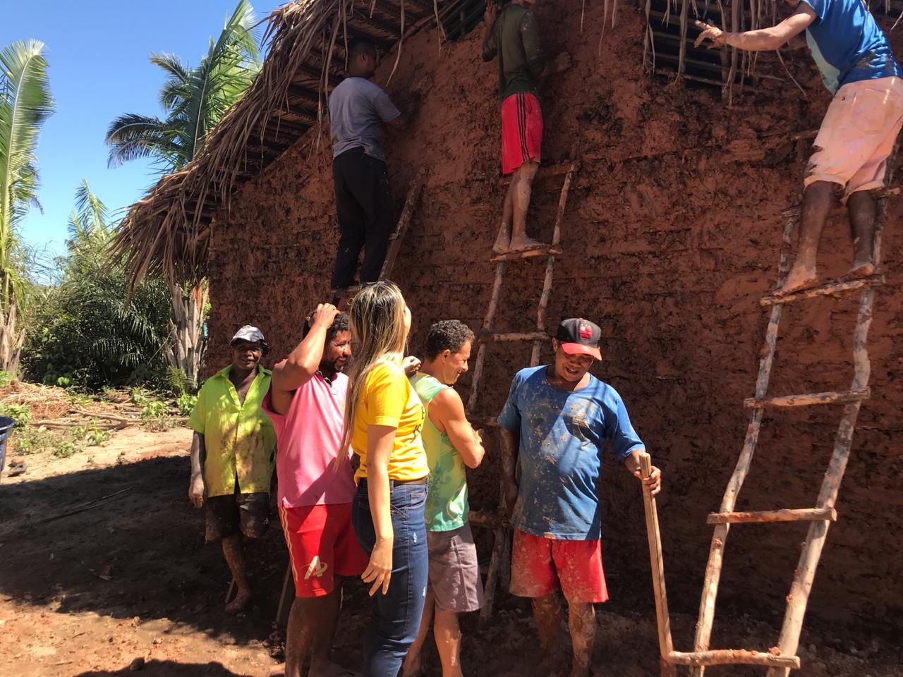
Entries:
{"type": "MultiPolygon", "coordinates": [[[[204,150],[208,134],[241,98],[260,70],[254,9],[239,0],[219,39],[210,38],[207,54],[191,68],[173,54],[154,53],[151,63],[166,73],[160,89],[164,116],[126,113],[107,130],[109,165],[153,158],[161,173],[177,172],[204,150]]],[[[167,356],[170,365],[197,383],[203,351],[205,281],[170,281],[173,324],[167,356]]]]}

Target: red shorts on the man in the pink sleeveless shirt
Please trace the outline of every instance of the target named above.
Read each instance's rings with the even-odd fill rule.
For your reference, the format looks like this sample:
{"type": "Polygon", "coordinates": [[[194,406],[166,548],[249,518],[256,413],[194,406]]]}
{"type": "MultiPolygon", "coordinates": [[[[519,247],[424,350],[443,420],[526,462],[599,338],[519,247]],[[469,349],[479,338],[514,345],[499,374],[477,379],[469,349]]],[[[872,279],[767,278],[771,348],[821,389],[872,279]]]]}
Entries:
{"type": "Polygon", "coordinates": [[[335,576],[359,576],[370,560],[351,527],[351,504],[279,507],[295,597],[329,595],[335,576]]]}

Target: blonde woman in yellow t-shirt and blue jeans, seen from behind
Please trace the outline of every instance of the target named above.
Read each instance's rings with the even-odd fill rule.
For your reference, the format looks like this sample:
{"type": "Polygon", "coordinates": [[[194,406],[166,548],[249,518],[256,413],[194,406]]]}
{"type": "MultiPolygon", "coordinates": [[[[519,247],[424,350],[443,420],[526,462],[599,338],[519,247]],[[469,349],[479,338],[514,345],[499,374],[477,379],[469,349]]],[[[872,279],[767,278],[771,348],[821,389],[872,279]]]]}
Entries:
{"type": "Polygon", "coordinates": [[[364,677],[396,677],[424,611],[426,463],[424,407],[405,374],[411,311],[398,287],[368,285],[349,308],[355,362],[349,374],[342,448],[360,459],[351,522],[369,553],[361,578],[371,584],[374,616],[364,647],[364,677]]]}

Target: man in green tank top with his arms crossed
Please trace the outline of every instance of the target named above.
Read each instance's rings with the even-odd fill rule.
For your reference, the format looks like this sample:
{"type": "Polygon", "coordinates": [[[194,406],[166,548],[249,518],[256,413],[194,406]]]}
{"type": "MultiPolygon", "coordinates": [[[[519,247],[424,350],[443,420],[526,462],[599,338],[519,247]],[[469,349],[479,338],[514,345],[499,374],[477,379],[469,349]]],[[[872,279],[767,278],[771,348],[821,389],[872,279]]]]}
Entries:
{"type": "Polygon", "coordinates": [[[427,416],[421,434],[430,465],[426,496],[426,544],[430,585],[420,632],[405,658],[402,677],[420,672],[424,646],[435,610],[433,634],[442,660],[442,677],[461,677],[461,629],[458,614],[483,604],[477,548],[468,524],[467,476],[476,468],[483,444],[464,414],[461,395],[451,386],[467,371],[474,335],[458,320],[436,322],[426,337],[424,364],[411,378],[427,416]]]}

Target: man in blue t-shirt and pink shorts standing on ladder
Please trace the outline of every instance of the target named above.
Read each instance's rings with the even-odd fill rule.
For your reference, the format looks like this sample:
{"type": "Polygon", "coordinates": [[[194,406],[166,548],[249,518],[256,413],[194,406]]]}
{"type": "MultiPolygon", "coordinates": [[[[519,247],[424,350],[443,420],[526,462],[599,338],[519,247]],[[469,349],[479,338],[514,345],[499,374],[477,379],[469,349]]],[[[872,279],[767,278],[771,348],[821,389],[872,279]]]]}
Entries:
{"type": "Polygon", "coordinates": [[[833,94],[806,168],[799,250],[777,296],[818,282],[815,255],[835,195],[848,202],[853,239],[849,279],[875,273],[874,191],[884,186],[887,159],[903,124],[903,70],[887,36],[862,0],[802,0],[771,28],[723,32],[705,23],[696,39],[740,50],[768,51],[805,30],[805,40],[833,94]]]}

